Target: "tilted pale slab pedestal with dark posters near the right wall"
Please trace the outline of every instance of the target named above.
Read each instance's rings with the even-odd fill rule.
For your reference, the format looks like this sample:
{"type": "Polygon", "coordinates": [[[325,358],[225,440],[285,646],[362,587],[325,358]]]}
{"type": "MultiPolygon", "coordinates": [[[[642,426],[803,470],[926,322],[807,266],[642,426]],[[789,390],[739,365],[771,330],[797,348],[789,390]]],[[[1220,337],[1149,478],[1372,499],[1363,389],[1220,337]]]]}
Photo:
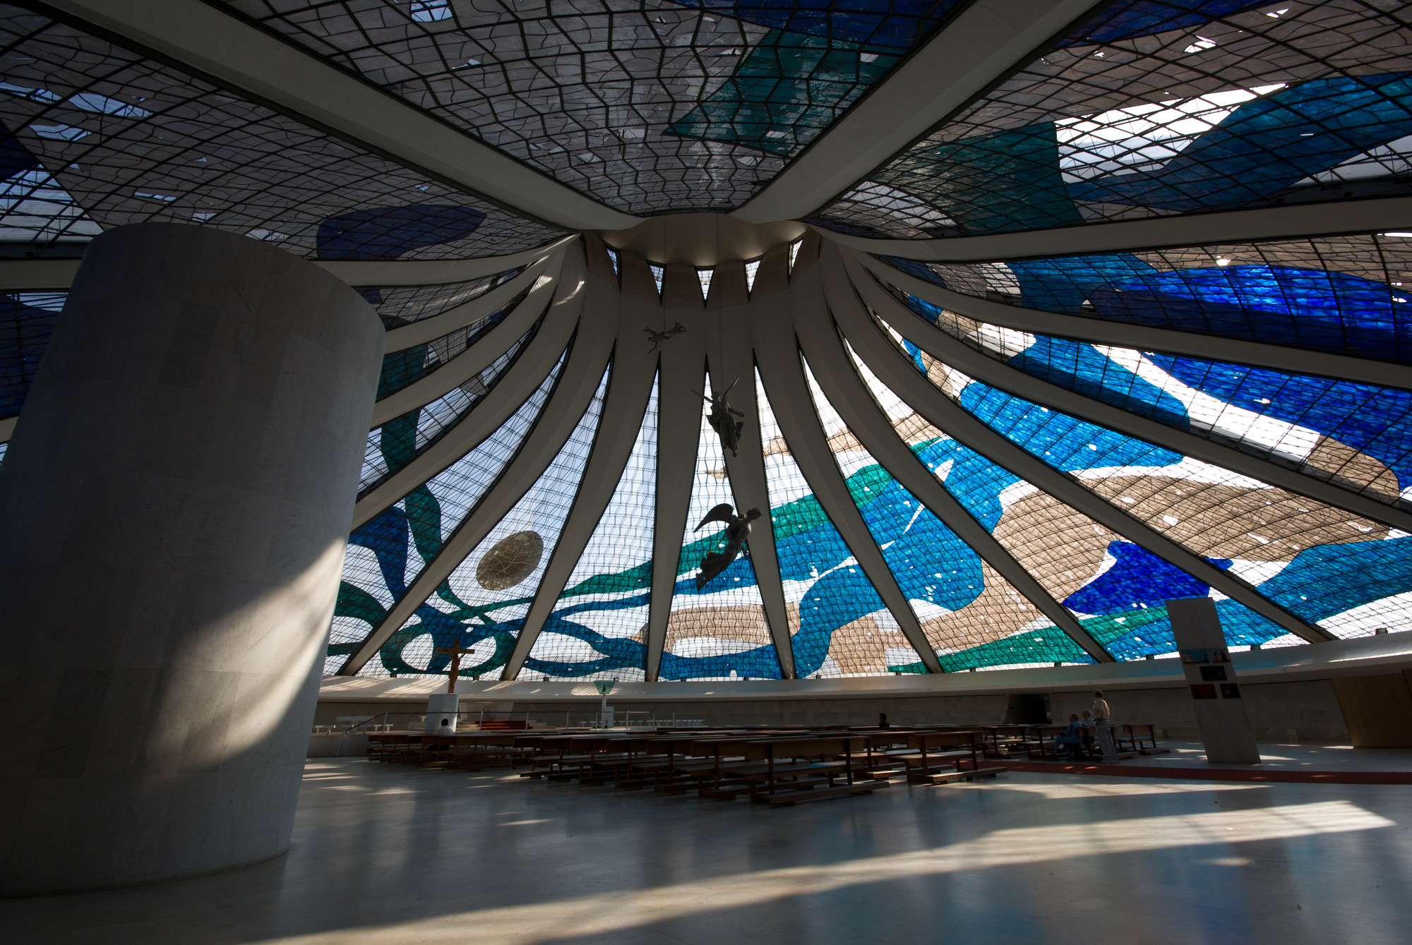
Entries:
{"type": "Polygon", "coordinates": [[[1207,763],[1260,764],[1260,749],[1226,649],[1216,601],[1209,597],[1168,601],[1166,614],[1182,654],[1207,763]]]}

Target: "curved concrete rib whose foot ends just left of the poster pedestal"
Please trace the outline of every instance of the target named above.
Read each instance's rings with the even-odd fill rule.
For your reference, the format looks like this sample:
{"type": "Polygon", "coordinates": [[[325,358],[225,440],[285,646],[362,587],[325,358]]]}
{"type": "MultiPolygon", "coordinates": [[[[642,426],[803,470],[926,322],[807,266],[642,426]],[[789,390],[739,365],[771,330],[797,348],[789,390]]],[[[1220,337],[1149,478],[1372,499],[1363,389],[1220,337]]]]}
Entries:
{"type": "MultiPolygon", "coordinates": [[[[849,291],[847,276],[842,271],[836,251],[830,254],[826,250],[825,260],[829,303],[834,307],[858,305],[857,298],[849,291]]],[[[1089,656],[1100,663],[1113,662],[1113,656],[946,491],[946,487],[936,481],[932,471],[892,432],[887,415],[868,394],[851,358],[843,350],[839,331],[827,312],[812,309],[799,312],[795,330],[825,396],[873,458],[1089,656]]]]}

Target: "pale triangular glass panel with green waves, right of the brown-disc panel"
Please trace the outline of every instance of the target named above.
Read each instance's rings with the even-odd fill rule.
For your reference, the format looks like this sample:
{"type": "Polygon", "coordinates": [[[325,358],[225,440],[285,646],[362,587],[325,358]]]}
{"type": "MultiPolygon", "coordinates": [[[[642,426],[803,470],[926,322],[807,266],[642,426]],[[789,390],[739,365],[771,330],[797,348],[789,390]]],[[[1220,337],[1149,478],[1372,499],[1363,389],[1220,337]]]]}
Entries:
{"type": "Polygon", "coordinates": [[[652,598],[657,382],[642,429],[593,537],[517,678],[642,680],[652,598]]]}

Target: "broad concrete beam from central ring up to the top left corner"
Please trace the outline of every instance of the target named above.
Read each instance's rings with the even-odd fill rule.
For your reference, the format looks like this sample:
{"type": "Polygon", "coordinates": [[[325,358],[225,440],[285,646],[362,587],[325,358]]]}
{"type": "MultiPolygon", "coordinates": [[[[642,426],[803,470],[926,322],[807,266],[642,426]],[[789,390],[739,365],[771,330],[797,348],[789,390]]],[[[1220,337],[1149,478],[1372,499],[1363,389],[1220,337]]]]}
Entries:
{"type": "Polygon", "coordinates": [[[371,82],[202,0],[51,0],[55,10],[217,85],[493,203],[566,230],[640,220],[559,183],[371,82]]]}

